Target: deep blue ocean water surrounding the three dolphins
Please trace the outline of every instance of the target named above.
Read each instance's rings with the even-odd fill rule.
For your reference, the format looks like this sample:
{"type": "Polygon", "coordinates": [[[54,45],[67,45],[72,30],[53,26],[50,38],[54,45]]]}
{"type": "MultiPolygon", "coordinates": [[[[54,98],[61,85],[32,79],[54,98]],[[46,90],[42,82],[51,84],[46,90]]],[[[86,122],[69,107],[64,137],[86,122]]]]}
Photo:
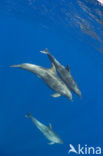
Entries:
{"type": "Polygon", "coordinates": [[[96,0],[0,1],[0,156],[66,156],[69,144],[103,147],[102,13],[96,0]],[[45,48],[70,65],[81,99],[52,98],[37,76],[10,68],[25,62],[49,68],[45,48]],[[49,146],[28,112],[51,123],[64,144],[49,146]]]}

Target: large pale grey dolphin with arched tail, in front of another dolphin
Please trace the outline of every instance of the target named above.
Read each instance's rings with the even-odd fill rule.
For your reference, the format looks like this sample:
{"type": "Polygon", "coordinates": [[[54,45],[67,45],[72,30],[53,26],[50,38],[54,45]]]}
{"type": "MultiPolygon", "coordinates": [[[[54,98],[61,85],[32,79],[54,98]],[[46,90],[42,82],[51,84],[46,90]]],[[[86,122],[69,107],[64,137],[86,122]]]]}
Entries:
{"type": "Polygon", "coordinates": [[[33,74],[40,77],[52,90],[56,93],[52,97],[65,96],[72,100],[71,91],[65,85],[65,83],[57,76],[54,64],[51,68],[43,68],[34,64],[24,63],[19,65],[12,65],[11,67],[18,67],[24,70],[28,70],[33,74]]]}

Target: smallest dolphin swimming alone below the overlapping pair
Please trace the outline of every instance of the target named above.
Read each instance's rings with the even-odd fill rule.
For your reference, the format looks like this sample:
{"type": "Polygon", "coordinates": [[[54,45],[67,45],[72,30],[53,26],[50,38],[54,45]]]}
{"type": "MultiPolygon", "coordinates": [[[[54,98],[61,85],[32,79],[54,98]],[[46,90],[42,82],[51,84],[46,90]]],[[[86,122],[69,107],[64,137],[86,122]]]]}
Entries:
{"type": "Polygon", "coordinates": [[[49,124],[49,127],[42,124],[40,121],[38,121],[36,118],[34,118],[30,113],[26,115],[27,118],[30,118],[32,122],[35,124],[35,126],[44,134],[44,136],[50,141],[50,145],[53,145],[55,143],[57,144],[63,144],[63,141],[60,139],[57,134],[55,134],[52,130],[51,124],[49,124]]]}

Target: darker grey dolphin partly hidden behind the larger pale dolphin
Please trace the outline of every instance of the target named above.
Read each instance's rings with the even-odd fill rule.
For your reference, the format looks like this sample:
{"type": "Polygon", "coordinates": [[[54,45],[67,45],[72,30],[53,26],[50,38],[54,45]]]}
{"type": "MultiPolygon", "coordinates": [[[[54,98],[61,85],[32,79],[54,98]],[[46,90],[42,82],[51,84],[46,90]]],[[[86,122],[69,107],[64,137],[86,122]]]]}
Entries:
{"type": "Polygon", "coordinates": [[[50,54],[50,52],[48,51],[48,49],[45,49],[45,50],[40,51],[40,52],[48,55],[50,61],[55,65],[56,70],[57,70],[60,78],[64,81],[64,83],[67,85],[67,87],[70,90],[72,90],[75,94],[77,94],[78,96],[81,97],[81,91],[80,91],[77,83],[75,82],[75,80],[73,79],[73,77],[72,77],[72,75],[70,73],[69,65],[67,65],[66,68],[63,65],[61,65],[54,58],[54,56],[52,56],[50,54]]]}

